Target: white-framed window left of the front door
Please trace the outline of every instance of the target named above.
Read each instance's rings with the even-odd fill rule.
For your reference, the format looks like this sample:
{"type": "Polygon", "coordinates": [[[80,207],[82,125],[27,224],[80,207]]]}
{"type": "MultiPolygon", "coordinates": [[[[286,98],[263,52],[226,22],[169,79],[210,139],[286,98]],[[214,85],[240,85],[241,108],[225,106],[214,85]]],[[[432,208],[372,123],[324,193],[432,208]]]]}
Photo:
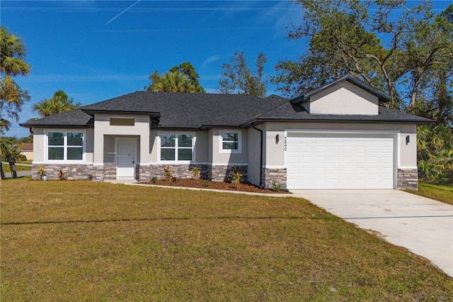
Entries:
{"type": "Polygon", "coordinates": [[[83,132],[47,133],[47,160],[82,160],[83,132]]]}

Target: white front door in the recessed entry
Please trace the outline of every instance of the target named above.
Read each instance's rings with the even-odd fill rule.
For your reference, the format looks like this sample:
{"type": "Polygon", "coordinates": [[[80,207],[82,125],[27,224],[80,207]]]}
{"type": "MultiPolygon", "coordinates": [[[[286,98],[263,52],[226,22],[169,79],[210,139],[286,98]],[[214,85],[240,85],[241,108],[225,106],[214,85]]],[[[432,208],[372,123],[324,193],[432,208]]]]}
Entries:
{"type": "Polygon", "coordinates": [[[134,178],[137,140],[135,138],[117,138],[116,144],[116,177],[134,178]]]}

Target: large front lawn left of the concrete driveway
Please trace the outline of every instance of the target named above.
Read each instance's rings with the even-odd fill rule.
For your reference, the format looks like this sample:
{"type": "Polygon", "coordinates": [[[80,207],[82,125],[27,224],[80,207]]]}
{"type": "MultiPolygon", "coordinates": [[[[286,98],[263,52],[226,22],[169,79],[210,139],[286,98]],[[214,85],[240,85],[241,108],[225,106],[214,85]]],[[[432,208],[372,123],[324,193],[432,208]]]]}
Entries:
{"type": "Polygon", "coordinates": [[[301,198],[1,183],[2,301],[452,301],[425,259],[301,198]]]}

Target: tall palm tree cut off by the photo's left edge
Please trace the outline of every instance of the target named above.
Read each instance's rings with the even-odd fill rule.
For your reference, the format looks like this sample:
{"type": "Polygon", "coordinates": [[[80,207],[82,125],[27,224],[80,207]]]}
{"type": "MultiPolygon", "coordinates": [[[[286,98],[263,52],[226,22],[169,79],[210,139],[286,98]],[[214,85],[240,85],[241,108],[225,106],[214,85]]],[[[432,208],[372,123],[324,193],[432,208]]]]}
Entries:
{"type": "Polygon", "coordinates": [[[23,40],[0,26],[0,134],[11,126],[6,118],[18,121],[22,105],[30,99],[28,91],[22,90],[12,78],[30,72],[26,52],[23,40]]]}

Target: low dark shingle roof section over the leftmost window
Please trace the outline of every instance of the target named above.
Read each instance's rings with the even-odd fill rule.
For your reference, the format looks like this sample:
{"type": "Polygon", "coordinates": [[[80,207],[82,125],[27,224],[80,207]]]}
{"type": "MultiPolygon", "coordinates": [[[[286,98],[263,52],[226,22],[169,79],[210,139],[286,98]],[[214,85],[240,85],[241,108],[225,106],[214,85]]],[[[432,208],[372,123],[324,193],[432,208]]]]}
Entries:
{"type": "Polygon", "coordinates": [[[93,125],[93,117],[82,112],[80,108],[21,124],[23,127],[93,127],[93,125]]]}

